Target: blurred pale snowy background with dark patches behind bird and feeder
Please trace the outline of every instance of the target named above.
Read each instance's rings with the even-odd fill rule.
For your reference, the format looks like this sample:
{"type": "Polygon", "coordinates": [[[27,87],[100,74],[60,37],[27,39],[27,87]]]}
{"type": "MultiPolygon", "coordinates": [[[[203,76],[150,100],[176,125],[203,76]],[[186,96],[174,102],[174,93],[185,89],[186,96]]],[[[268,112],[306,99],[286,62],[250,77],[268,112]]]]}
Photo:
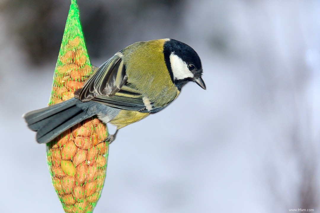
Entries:
{"type": "MultiPolygon", "coordinates": [[[[95,213],[320,212],[320,1],[78,3],[93,65],[169,37],[207,86],[119,131],[95,213]]],[[[68,10],[0,1],[0,212],[63,212],[21,115],[48,103],[68,10]]]]}

